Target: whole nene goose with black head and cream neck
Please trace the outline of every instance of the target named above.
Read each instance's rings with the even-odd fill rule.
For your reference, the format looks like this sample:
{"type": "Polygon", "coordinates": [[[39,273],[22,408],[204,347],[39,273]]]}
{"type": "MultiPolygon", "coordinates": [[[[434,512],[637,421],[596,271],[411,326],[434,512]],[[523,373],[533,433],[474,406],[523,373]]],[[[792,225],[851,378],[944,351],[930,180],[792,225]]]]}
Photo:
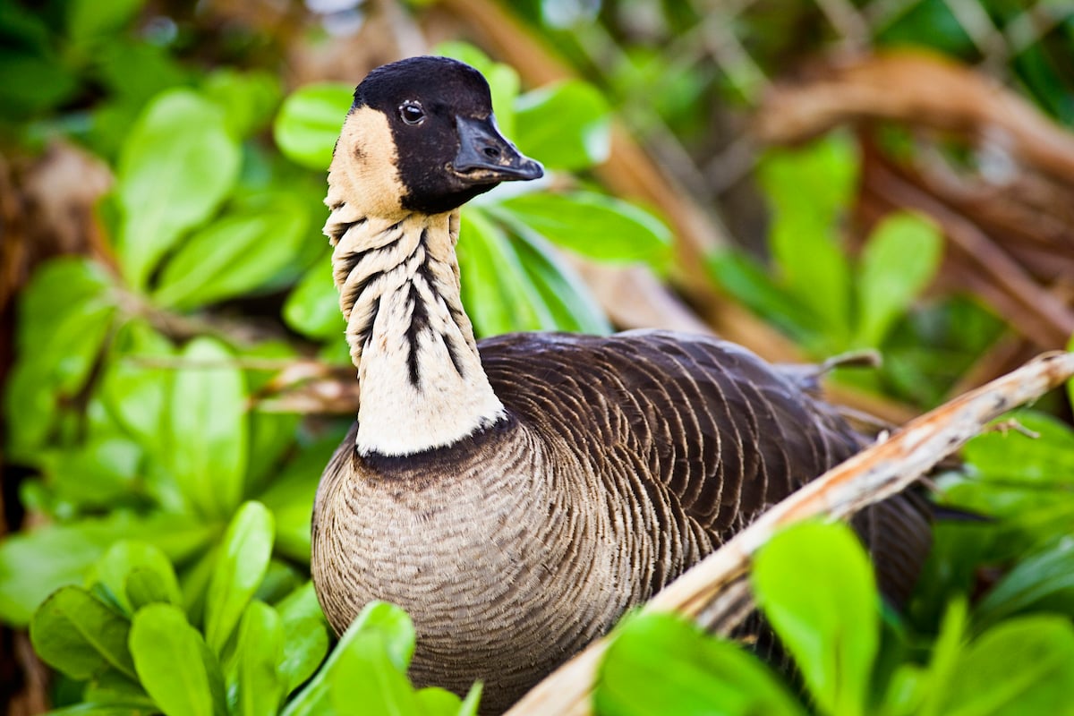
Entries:
{"type": "MultiPolygon", "coordinates": [[[[541,174],[479,72],[418,57],[359,85],[325,200],[360,405],[317,493],[317,594],[337,632],[369,600],[405,608],[415,682],[483,680],[488,711],[859,449],[800,372],[711,337],[476,342],[459,207],[541,174]]],[[[928,524],[886,505],[861,531],[898,591],[928,524]]]]}

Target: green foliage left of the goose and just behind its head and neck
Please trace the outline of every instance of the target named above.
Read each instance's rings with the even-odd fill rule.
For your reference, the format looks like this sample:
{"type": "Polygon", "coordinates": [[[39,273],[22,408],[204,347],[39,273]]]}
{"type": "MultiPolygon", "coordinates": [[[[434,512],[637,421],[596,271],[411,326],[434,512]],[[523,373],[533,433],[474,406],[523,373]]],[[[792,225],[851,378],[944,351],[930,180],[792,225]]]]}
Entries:
{"type": "MultiPolygon", "coordinates": [[[[347,360],[318,224],[352,88],[280,102],[270,75],[205,72],[131,32],[140,2],[106,17],[89,4],[56,3],[58,25],[2,5],[17,42],[0,74],[21,67],[55,90],[5,83],[4,131],[28,148],[61,131],[110,163],[100,215],[116,261],[48,262],[20,295],[4,453],[39,473],[21,498],[49,524],[0,546],[0,618],[29,624],[41,657],[84,683],[67,690],[82,695],[70,713],[365,714],[378,699],[386,713],[473,713],[479,688],[463,703],[410,687],[412,628],[387,605],[300,688],[329,645],[306,581],[309,514],[344,425],[259,411],[261,388],[308,348],[279,323],[251,338],[224,318],[257,298],[347,360]],[[90,90],[88,122],[69,121],[90,90]]],[[[444,52],[481,67],[500,125],[548,169],[607,155],[609,112],[585,84],[520,94],[512,69],[444,52]]],[[[663,264],[669,243],[651,214],[595,188],[487,196],[460,247],[476,327],[607,332],[553,247],[663,264]]]]}

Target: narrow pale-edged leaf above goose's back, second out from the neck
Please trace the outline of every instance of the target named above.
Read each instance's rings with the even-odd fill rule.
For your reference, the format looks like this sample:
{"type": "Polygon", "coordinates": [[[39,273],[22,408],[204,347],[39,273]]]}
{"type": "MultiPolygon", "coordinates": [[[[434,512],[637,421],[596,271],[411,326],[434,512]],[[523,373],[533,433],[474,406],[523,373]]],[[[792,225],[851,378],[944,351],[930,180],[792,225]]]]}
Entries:
{"type": "Polygon", "coordinates": [[[611,323],[578,272],[556,255],[541,236],[520,234],[512,242],[522,267],[554,321],[556,331],[607,335],[611,323]]]}

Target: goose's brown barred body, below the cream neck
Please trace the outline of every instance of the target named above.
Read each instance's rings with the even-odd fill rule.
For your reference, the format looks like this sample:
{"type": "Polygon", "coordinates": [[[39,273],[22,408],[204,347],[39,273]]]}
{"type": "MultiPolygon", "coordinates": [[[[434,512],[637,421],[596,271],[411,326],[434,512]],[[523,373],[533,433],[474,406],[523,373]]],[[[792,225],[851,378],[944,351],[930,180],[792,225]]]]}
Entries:
{"type": "MultiPolygon", "coordinates": [[[[313,566],[340,587],[320,589],[336,630],[371,599],[401,604],[412,677],[483,680],[493,712],[860,447],[800,374],[714,338],[513,334],[479,349],[507,419],[404,457],[361,456],[349,436],[318,492],[313,566]]],[[[882,534],[921,525],[916,506],[865,518],[882,583],[915,574],[928,546],[882,534]]]]}

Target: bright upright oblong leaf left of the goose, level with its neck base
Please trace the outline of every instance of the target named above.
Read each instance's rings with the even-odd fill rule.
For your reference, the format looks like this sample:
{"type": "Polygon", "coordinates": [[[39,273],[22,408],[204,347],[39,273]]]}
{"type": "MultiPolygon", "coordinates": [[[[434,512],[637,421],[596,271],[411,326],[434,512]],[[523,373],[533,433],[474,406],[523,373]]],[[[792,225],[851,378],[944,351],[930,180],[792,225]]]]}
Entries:
{"type": "Polygon", "coordinates": [[[226,516],[243,496],[246,472],[246,390],[234,355],[201,337],[178,354],[168,425],[169,468],[199,513],[226,516]]]}

